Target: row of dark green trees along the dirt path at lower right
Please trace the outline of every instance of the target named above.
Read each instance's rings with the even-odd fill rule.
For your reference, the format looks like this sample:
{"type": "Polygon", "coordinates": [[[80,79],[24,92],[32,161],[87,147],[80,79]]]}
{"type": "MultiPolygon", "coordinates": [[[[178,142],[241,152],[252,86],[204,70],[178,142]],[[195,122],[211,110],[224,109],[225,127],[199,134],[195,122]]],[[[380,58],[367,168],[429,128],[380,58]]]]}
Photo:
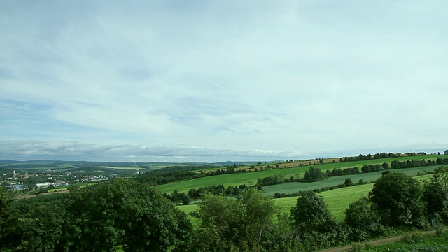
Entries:
{"type": "Polygon", "coordinates": [[[421,186],[405,174],[386,172],[368,197],[349,205],[344,223],[334,221],[322,197],[304,193],[290,214],[296,237],[317,249],[339,246],[341,241],[366,241],[393,228],[426,228],[431,219],[447,224],[448,191],[441,183],[447,174],[448,169],[437,168],[433,180],[421,186]]]}

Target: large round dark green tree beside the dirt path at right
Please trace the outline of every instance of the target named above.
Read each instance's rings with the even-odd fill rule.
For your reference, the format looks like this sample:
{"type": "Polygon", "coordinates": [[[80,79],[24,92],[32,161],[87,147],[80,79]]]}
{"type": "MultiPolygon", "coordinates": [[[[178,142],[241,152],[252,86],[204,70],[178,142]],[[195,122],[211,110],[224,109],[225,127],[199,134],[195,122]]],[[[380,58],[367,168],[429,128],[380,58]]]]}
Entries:
{"type": "Polygon", "coordinates": [[[423,225],[423,190],[416,179],[394,172],[381,176],[369,193],[384,225],[423,225]]]}

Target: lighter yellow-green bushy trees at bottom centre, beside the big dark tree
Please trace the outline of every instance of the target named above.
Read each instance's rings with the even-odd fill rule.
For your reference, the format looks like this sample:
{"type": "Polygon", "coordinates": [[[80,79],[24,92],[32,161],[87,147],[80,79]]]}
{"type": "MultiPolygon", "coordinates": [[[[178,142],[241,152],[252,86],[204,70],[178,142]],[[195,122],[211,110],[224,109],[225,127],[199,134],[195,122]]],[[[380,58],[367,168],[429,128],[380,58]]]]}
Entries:
{"type": "Polygon", "coordinates": [[[193,212],[201,224],[190,240],[190,248],[209,251],[220,244],[224,251],[258,251],[272,235],[272,217],[276,212],[274,200],[254,188],[244,191],[237,200],[204,195],[199,209],[193,212]]]}

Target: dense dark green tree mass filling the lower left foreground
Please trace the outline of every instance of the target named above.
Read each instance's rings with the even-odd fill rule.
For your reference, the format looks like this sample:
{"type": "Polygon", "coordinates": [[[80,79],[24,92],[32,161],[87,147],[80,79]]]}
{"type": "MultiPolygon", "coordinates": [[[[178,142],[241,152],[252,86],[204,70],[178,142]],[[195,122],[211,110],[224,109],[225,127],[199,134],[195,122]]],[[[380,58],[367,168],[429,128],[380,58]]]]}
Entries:
{"type": "Polygon", "coordinates": [[[117,179],[12,202],[1,189],[0,251],[167,251],[192,225],[148,183],[117,179]]]}

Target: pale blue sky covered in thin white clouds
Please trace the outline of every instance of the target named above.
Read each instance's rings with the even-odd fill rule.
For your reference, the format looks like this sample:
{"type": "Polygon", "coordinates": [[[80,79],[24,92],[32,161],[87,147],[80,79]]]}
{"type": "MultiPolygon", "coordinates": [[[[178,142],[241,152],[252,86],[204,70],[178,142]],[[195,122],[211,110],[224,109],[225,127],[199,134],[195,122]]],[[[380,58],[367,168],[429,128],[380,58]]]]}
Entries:
{"type": "Polygon", "coordinates": [[[448,148],[448,1],[0,1],[0,159],[448,148]]]}

